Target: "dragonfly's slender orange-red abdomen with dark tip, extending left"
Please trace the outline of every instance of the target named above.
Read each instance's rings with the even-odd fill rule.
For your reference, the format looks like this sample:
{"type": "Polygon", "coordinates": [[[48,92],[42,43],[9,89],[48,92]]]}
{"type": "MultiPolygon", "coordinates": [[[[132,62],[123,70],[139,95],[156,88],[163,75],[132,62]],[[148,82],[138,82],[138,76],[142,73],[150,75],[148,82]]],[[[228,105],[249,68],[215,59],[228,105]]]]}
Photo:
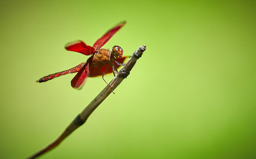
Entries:
{"type": "Polygon", "coordinates": [[[68,69],[68,70],[65,70],[65,71],[61,71],[61,72],[57,72],[57,73],[53,73],[53,74],[49,74],[47,76],[44,76],[44,77],[41,77],[39,80],[37,80],[36,82],[46,82],[48,80],[52,80],[53,78],[55,77],[58,77],[58,76],[61,76],[61,75],[65,75],[65,74],[68,74],[68,73],[75,73],[75,72],[78,72],[81,70],[81,68],[85,65],[86,63],[80,63],[79,65],[71,68],[71,69],[68,69]]]}

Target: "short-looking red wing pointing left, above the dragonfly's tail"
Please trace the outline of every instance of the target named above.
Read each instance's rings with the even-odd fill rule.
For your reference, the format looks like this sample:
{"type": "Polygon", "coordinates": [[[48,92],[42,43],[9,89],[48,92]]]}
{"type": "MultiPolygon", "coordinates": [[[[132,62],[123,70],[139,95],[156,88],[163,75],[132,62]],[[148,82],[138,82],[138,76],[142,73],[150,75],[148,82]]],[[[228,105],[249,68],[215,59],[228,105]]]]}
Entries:
{"type": "Polygon", "coordinates": [[[92,55],[95,52],[92,46],[87,45],[81,40],[70,42],[66,44],[65,48],[69,51],[80,52],[83,55],[92,55]]]}

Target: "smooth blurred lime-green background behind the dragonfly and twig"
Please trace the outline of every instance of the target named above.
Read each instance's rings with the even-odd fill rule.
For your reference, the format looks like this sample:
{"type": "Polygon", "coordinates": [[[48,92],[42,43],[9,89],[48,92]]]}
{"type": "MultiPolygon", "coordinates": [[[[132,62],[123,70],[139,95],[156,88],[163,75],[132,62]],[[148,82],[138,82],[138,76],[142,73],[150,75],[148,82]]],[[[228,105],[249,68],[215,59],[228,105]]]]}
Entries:
{"type": "MultiPolygon", "coordinates": [[[[132,55],[131,74],[41,158],[255,158],[256,5],[253,1],[1,1],[0,157],[25,158],[57,138],[105,87],[67,74],[122,20],[103,48],[132,55]]],[[[111,81],[113,75],[106,76],[111,81]]]]}

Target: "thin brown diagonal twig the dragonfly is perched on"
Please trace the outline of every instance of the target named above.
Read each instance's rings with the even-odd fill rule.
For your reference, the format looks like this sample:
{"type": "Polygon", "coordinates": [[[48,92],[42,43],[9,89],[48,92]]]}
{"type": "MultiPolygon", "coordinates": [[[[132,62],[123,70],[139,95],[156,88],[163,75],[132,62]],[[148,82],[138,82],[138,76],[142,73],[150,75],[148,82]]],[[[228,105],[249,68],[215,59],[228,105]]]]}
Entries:
{"type": "MultiPolygon", "coordinates": [[[[146,45],[141,45],[138,50],[133,53],[133,56],[129,59],[126,65],[119,71],[119,74],[113,78],[110,82],[110,86],[112,90],[115,90],[116,87],[126,78],[136,61],[142,56],[142,53],[145,51],[146,45]]],[[[98,105],[108,97],[112,90],[109,86],[106,86],[94,99],[93,101],[71,122],[71,124],[66,128],[65,131],[51,144],[42,148],[38,152],[34,153],[28,158],[35,158],[41,154],[48,152],[49,150],[56,147],[62,140],[67,138],[75,129],[81,126],[84,122],[86,122],[87,118],[92,114],[92,112],[98,107],[98,105]]]]}

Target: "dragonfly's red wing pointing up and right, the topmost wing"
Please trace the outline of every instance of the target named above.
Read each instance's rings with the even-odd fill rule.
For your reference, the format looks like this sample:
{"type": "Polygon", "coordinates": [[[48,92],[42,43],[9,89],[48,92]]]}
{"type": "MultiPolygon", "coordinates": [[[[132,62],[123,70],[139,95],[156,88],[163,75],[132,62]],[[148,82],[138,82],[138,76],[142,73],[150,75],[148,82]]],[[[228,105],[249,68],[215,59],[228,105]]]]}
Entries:
{"type": "Polygon", "coordinates": [[[122,26],[125,24],[125,21],[116,25],[114,28],[109,30],[105,33],[101,38],[99,38],[94,44],[93,47],[95,50],[100,49],[106,42],[110,40],[110,38],[119,30],[122,28],[122,26]]]}

